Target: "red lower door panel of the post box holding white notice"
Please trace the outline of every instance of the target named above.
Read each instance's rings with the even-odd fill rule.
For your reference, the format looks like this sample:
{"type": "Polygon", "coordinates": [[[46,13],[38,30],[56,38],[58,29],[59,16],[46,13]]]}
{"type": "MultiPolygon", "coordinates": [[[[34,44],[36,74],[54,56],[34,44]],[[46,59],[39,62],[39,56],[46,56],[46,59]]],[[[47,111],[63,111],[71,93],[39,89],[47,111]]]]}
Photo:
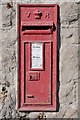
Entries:
{"type": "Polygon", "coordinates": [[[26,103],[51,104],[51,43],[27,43],[26,103]]]}

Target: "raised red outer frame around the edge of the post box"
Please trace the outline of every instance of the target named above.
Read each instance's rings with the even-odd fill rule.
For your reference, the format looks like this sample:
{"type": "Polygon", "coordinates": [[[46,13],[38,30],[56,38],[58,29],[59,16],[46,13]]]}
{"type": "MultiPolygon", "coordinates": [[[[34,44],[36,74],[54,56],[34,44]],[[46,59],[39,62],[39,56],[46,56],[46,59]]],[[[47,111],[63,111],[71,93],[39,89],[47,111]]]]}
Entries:
{"type": "MultiPolygon", "coordinates": [[[[19,111],[56,111],[57,108],[57,16],[58,16],[58,5],[57,4],[18,4],[18,104],[17,104],[17,108],[19,111]],[[20,51],[21,51],[21,36],[20,36],[20,7],[54,7],[54,24],[56,26],[56,30],[53,32],[53,38],[54,38],[54,42],[53,42],[53,80],[52,80],[52,105],[45,105],[45,106],[35,106],[35,104],[33,105],[33,107],[31,106],[27,106],[26,103],[24,103],[24,84],[25,82],[23,81],[23,84],[21,85],[21,80],[20,80],[20,74],[21,74],[21,67],[20,67],[20,51]],[[22,92],[20,92],[20,89],[22,90],[22,92]]],[[[25,34],[25,33],[24,33],[25,34]]],[[[28,34],[31,34],[28,32],[28,34]]],[[[32,34],[34,34],[34,32],[32,32],[32,34]]],[[[44,33],[45,34],[45,33],[44,33]]],[[[46,34],[49,34],[46,33],[46,34]]],[[[48,41],[48,40],[47,40],[48,41]]],[[[26,42],[26,41],[24,41],[26,42]]],[[[28,41],[27,41],[28,42],[28,41]]],[[[33,41],[34,42],[34,41],[33,41]]],[[[39,41],[38,41],[39,42],[39,41]]],[[[43,44],[43,49],[44,49],[44,42],[43,44]]],[[[24,43],[25,45],[25,43],[24,43]]],[[[24,51],[23,51],[24,52],[24,51]]],[[[44,55],[44,52],[43,52],[44,55]]],[[[43,58],[43,63],[44,63],[44,58],[43,58]]],[[[23,64],[24,65],[24,64],[23,64]]],[[[43,69],[44,69],[44,65],[43,65],[43,69]]],[[[42,69],[42,70],[43,70],[42,69]]],[[[33,69],[35,70],[35,69],[33,69]]]]}

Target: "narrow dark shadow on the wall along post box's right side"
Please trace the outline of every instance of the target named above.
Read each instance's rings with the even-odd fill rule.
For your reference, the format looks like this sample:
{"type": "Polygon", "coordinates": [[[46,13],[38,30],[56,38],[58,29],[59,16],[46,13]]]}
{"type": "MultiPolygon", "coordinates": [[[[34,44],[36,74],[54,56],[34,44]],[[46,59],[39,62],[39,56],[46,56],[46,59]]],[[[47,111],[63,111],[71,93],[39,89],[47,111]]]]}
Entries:
{"type": "Polygon", "coordinates": [[[61,47],[61,38],[60,38],[60,7],[58,6],[58,28],[57,28],[57,112],[59,112],[60,102],[59,102],[59,61],[60,61],[60,47],[61,47]]]}

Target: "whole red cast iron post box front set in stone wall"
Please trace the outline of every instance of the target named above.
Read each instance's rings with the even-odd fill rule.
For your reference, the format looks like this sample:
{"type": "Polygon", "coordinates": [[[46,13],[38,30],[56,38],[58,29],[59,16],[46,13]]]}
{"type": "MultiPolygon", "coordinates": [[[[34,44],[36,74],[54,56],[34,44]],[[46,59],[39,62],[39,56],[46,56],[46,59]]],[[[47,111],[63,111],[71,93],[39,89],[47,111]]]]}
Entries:
{"type": "Polygon", "coordinates": [[[56,110],[57,5],[18,5],[19,111],[56,110]]]}

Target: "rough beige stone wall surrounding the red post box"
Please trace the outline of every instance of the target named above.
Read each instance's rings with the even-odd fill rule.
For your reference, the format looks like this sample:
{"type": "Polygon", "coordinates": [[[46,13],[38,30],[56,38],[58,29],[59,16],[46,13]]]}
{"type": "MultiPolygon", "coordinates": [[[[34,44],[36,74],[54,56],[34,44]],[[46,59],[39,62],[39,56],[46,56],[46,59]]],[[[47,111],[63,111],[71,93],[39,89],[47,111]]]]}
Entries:
{"type": "Polygon", "coordinates": [[[78,118],[79,1],[2,0],[0,1],[0,118],[78,118]],[[11,4],[8,8],[7,3],[11,4]],[[60,7],[59,111],[18,112],[17,82],[17,4],[57,3],[60,7]]]}

